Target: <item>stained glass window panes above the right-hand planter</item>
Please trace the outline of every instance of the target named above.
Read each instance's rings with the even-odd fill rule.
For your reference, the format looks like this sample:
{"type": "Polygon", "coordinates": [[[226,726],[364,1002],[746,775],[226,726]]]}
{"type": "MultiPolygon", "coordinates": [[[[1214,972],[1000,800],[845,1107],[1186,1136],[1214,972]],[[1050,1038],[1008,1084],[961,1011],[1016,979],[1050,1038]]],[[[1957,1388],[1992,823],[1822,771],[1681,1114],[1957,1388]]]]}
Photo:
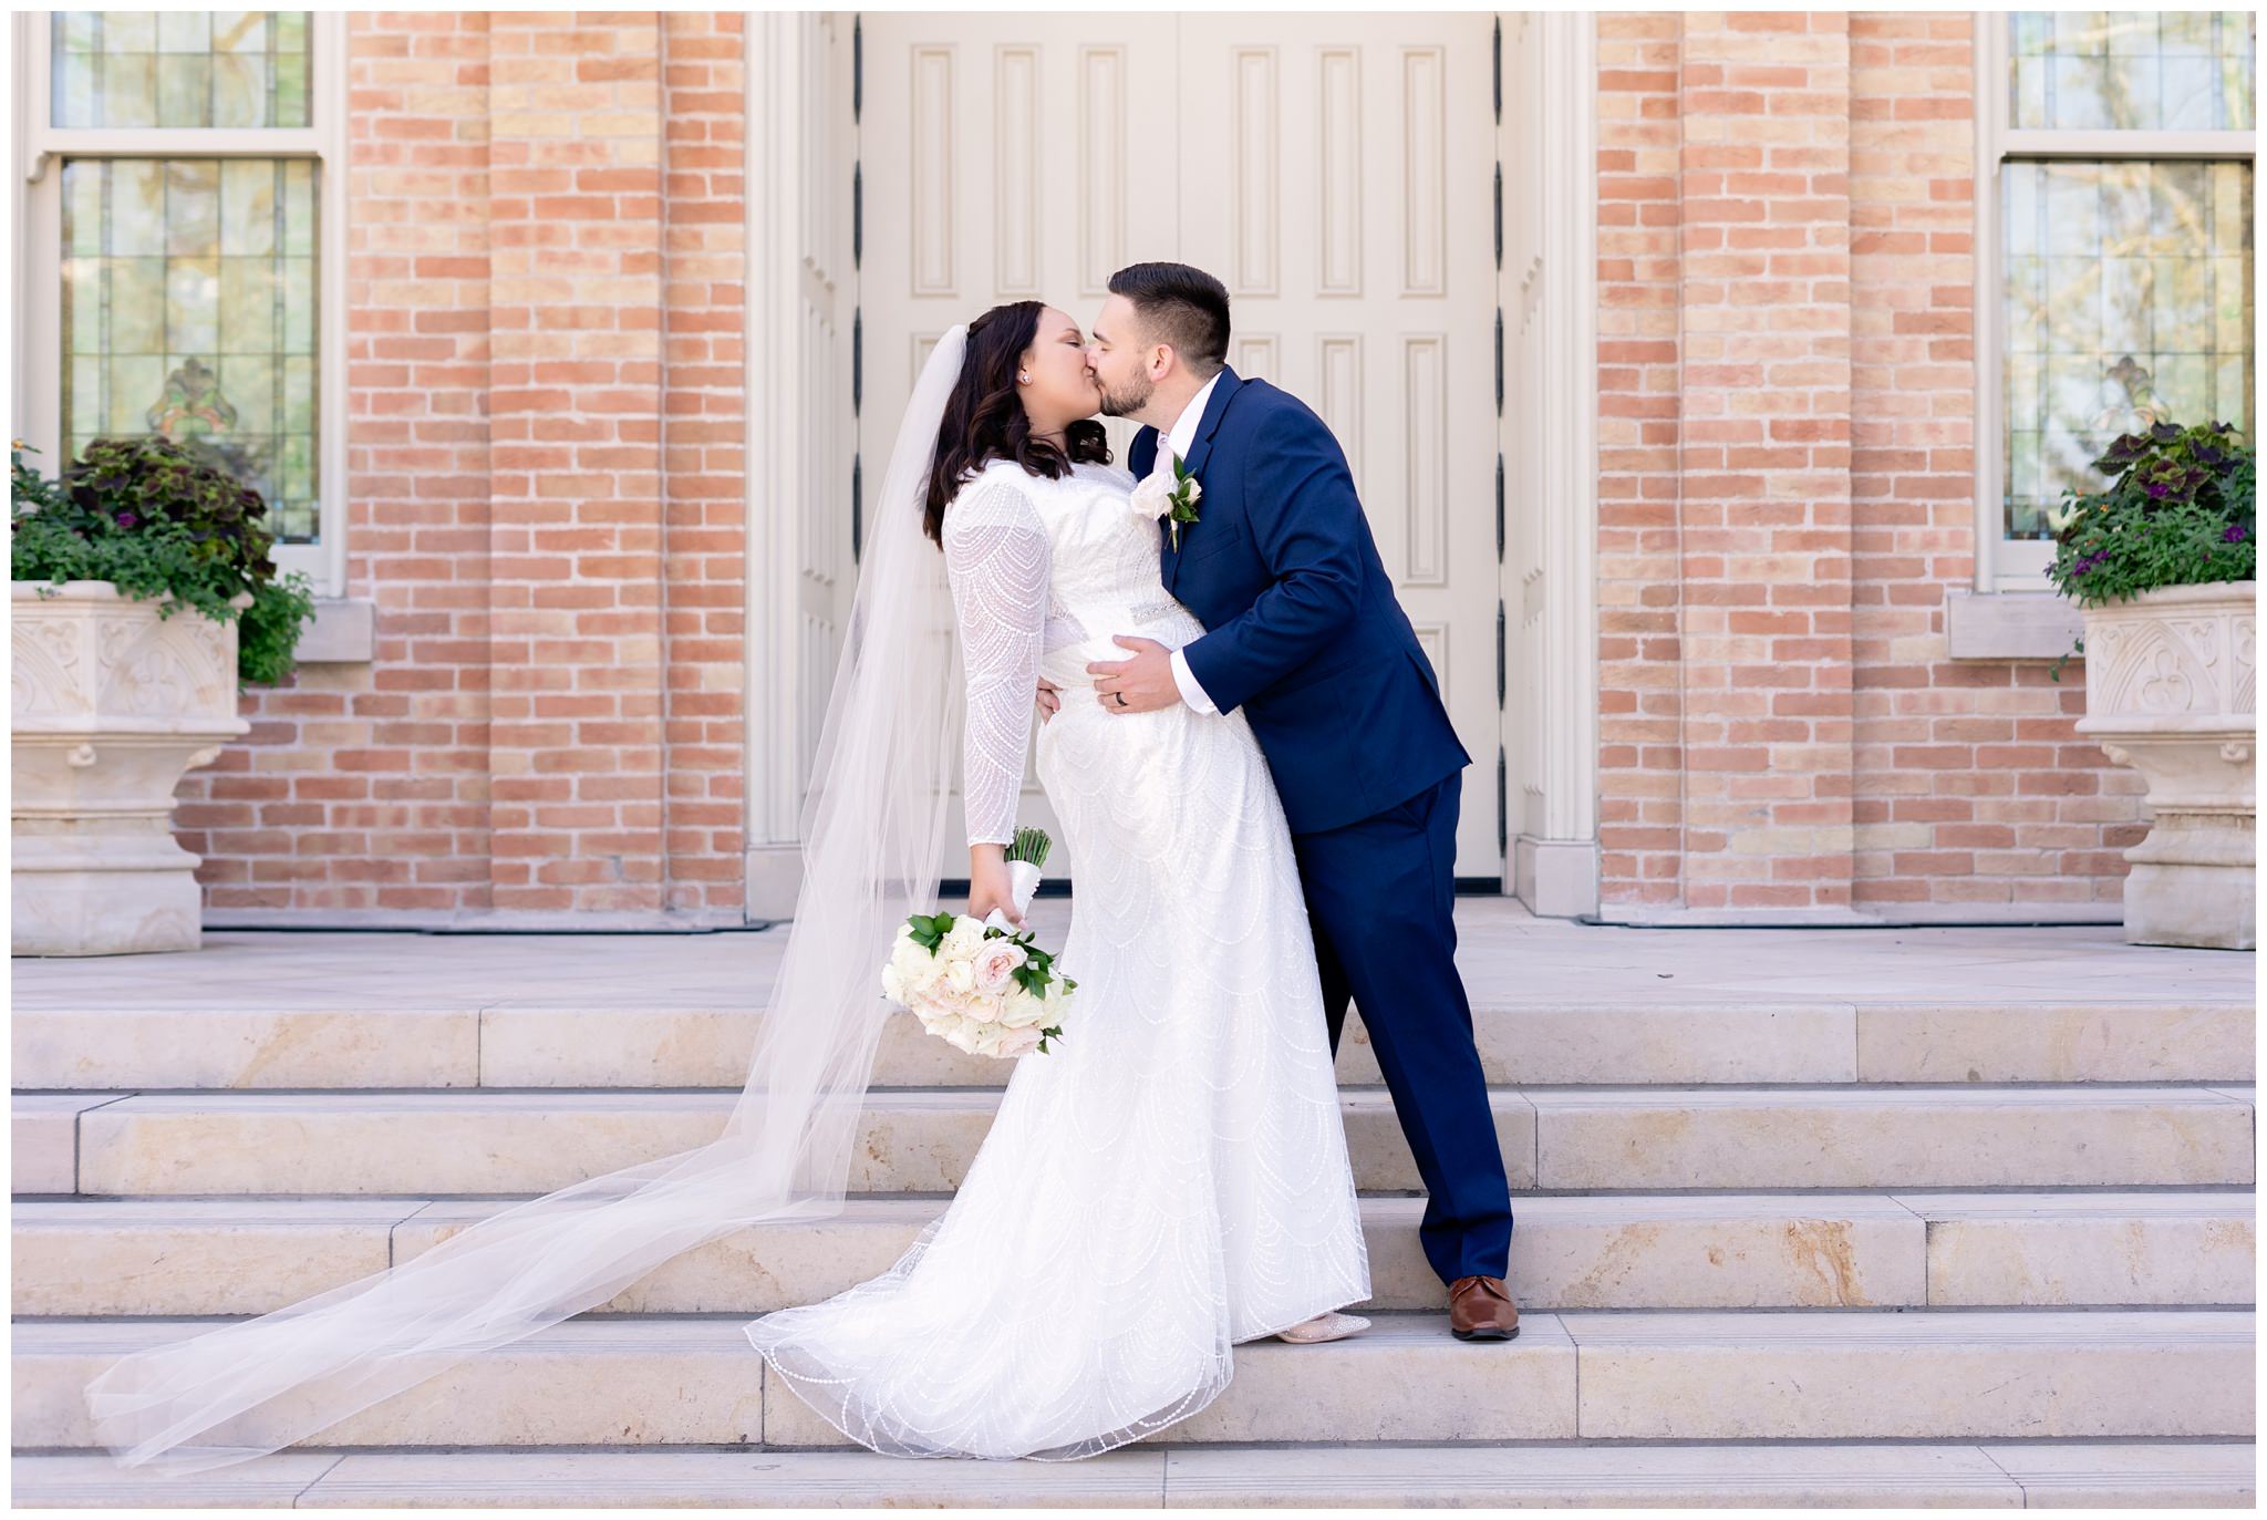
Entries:
{"type": "Polygon", "coordinates": [[[2183,136],[2253,125],[2253,34],[2247,11],[2004,25],[2009,125],[2033,136],[1999,161],[2002,533],[2045,540],[2120,433],[2253,431],[2251,159],[2183,136]],[[2106,157],[2104,132],[2131,147],[2106,157]]]}

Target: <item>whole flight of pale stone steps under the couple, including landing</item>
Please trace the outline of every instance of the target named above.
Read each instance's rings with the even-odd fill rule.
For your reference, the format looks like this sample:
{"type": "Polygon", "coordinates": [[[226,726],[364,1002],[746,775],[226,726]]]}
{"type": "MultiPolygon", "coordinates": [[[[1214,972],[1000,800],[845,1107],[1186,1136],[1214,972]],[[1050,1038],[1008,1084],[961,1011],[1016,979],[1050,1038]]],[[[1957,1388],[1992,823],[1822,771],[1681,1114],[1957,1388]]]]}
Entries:
{"type": "Polygon", "coordinates": [[[875,1456],[741,1334],[895,1261],[982,1143],[1011,1066],[900,1016],[837,1218],[685,1252],[304,1450],[120,1470],[82,1404],[109,1357],[712,1139],[766,937],[20,964],[16,1504],[2251,1504],[2256,1019],[2219,960],[1474,928],[1519,1341],[1449,1336],[1356,1019],[1374,1329],[1247,1343],[1215,1404],[1081,1463],[875,1456]]]}

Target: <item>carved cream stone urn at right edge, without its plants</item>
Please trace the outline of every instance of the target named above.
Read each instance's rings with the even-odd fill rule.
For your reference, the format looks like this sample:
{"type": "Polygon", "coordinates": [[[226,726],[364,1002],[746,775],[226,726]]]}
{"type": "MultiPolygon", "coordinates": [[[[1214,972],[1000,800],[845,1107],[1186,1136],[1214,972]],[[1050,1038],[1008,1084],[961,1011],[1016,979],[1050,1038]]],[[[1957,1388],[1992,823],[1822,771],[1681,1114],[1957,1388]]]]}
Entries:
{"type": "Polygon", "coordinates": [[[2156,814],[2124,853],[2129,944],[2256,948],[2256,590],[2160,585],[2083,608],[2077,731],[2142,774],[2156,814]]]}

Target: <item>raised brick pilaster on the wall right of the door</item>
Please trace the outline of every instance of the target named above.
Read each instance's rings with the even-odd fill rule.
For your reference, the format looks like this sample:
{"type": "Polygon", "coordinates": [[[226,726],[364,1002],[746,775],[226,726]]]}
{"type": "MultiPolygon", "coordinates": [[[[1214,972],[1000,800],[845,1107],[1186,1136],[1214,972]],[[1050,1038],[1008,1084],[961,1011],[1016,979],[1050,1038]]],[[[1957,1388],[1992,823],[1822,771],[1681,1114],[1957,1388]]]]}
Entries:
{"type": "Polygon", "coordinates": [[[1684,16],[1684,905],[1850,903],[1850,34],[1684,16]]]}

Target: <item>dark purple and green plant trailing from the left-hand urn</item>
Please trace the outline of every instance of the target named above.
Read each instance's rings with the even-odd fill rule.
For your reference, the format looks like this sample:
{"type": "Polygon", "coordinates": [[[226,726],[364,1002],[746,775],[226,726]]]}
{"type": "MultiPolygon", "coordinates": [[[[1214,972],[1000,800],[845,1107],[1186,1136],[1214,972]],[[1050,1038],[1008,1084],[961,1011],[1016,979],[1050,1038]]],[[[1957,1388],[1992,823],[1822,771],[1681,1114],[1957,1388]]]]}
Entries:
{"type": "MultiPolygon", "coordinates": [[[[274,533],[261,492],[170,438],[95,438],[61,479],[9,451],[9,579],[109,581],[125,597],[156,599],[238,622],[236,674],[274,683],[292,672],[315,588],[302,572],[277,576],[274,533]],[[229,606],[252,592],[245,608],[229,606]]],[[[41,597],[54,597],[43,588],[41,597]]]]}

